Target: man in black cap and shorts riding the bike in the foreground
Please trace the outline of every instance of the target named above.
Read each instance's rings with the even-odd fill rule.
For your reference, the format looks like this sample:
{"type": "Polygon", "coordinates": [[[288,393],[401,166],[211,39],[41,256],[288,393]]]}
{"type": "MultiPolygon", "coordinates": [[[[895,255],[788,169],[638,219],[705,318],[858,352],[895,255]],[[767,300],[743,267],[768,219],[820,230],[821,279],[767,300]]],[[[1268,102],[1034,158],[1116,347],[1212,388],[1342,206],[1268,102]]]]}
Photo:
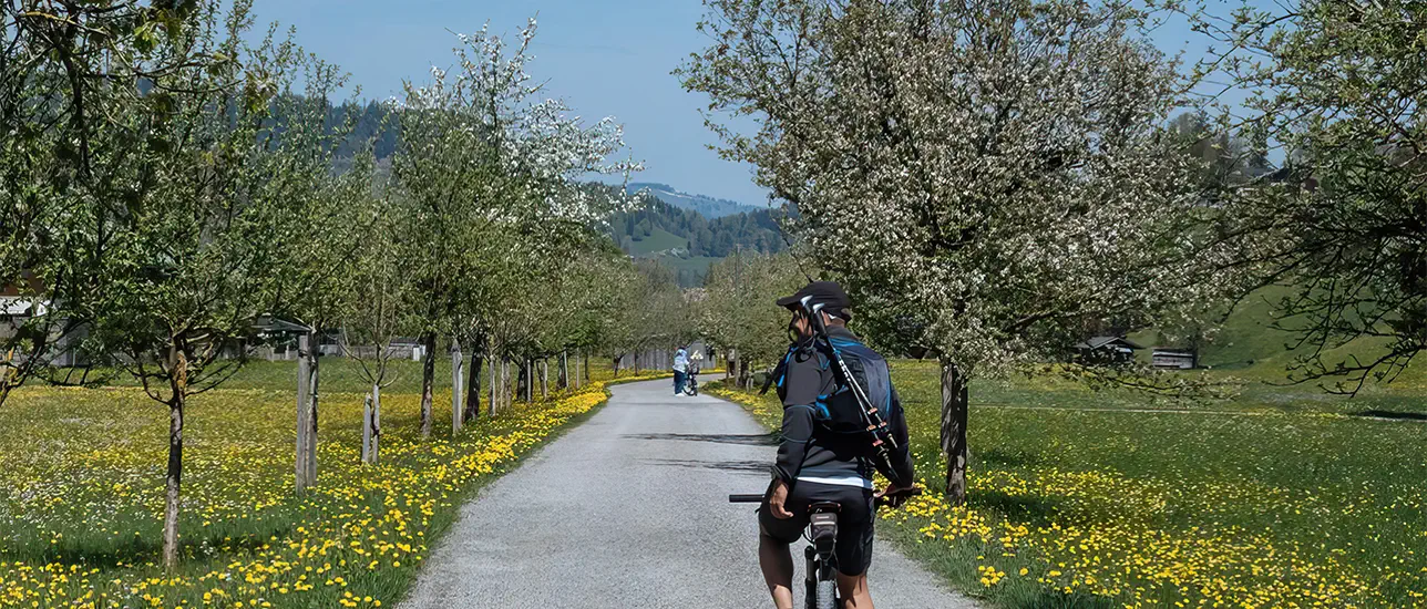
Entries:
{"type": "Polygon", "coordinates": [[[783,426],[778,461],[772,469],[773,481],[758,511],[758,562],[773,605],[778,609],[792,609],[793,561],[788,546],[808,526],[811,503],[836,502],[842,506],[838,513],[838,588],[845,608],[872,609],[866,573],[872,565],[873,501],[888,495],[896,502],[898,492],[910,488],[913,481],[906,418],[890,381],[886,382],[889,395],[870,396],[873,401],[890,399],[888,426],[898,446],[890,451],[892,471],[882,472],[892,483],[873,493],[873,471],[885,466],[872,464],[872,439],[866,434],[833,434],[818,425],[819,409],[826,412],[826,408],[858,405],[849,392],[839,392],[845,388],[838,387],[828,365],[829,347],[815,341],[812,321],[801,312],[799,304],[805,297],[812,297],[809,304],[823,305],[819,314],[823,315],[829,338],[860,344],[846,327],[852,319],[850,301],[836,282],[815,281],[798,294],[778,300],[778,305],[793,311],[788,324],[792,345],[769,379],[778,382],[778,396],[783,401],[783,426]],[[853,402],[839,402],[842,399],[853,402]]]}

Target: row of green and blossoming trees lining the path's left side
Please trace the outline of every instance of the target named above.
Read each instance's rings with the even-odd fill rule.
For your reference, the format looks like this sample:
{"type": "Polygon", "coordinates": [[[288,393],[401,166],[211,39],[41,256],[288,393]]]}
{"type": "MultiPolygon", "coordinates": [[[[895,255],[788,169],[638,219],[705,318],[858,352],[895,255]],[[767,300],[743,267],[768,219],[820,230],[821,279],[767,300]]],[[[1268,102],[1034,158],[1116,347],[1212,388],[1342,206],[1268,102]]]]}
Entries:
{"type": "MultiPolygon", "coordinates": [[[[29,379],[74,378],[51,365],[60,351],[141,381],[170,412],[168,566],[186,405],[234,374],[258,319],[342,337],[377,412],[388,347],[420,335],[422,435],[438,341],[475,354],[465,408],[454,396],[459,426],[478,415],[482,361],[646,339],[621,319],[646,274],[596,230],[631,200],[575,180],[638,165],[612,160],[624,143],[611,120],[539,97],[534,20],[514,44],[461,36],[450,74],[387,103],[395,130],[365,130],[400,133],[387,170],[372,147],[390,141],[337,163],[372,113],[334,110],[344,73],[291,33],[254,36],[250,7],[0,4],[0,285],[19,304],[0,401],[29,379]]],[[[304,344],[298,489],[317,475],[318,358],[304,344]]],[[[501,385],[492,395],[508,399],[501,385]]]]}

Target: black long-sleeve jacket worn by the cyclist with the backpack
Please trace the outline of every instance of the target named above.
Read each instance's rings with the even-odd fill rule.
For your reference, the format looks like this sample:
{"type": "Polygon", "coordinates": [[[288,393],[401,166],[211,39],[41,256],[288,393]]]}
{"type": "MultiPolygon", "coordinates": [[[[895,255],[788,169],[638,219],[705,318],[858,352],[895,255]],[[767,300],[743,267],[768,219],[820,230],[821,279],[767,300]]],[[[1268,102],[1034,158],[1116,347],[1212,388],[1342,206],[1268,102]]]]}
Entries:
{"type": "MultiPolygon", "coordinates": [[[[856,341],[856,335],[843,327],[828,328],[833,339],[856,341]]],[[[890,469],[873,461],[873,448],[866,434],[833,434],[818,425],[818,409],[826,408],[829,399],[850,399],[838,394],[836,374],[832,371],[828,347],[816,342],[789,348],[785,372],[778,379],[778,396],[783,401],[782,442],[778,446],[775,475],[789,488],[798,481],[829,485],[872,488],[873,469],[883,469],[899,486],[910,486],[913,481],[912,455],[908,449],[906,416],[896,389],[888,385],[890,404],[888,428],[896,449],[890,451],[890,469]]]]}

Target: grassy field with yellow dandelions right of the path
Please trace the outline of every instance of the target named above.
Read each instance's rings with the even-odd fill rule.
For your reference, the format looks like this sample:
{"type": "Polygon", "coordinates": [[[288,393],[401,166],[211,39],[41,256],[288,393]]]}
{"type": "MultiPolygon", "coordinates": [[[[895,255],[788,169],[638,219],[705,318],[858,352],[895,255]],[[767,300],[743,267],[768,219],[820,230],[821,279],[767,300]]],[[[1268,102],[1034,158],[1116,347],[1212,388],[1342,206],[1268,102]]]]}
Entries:
{"type": "MultiPolygon", "coordinates": [[[[1421,377],[1356,399],[1214,378],[1237,395],[979,382],[970,498],[952,508],[936,492],[938,368],[896,362],[933,492],[883,512],[883,536],[996,606],[1424,605],[1421,377]]],[[[711,391],[778,425],[772,392],[711,391]]]]}

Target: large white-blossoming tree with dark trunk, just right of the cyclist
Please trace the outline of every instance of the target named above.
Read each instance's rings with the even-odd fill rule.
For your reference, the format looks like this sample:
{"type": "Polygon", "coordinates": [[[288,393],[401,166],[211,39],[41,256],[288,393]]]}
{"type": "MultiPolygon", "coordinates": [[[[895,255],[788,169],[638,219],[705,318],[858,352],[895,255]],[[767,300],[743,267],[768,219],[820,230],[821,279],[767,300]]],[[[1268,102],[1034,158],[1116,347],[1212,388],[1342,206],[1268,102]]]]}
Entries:
{"type": "MultiPolygon", "coordinates": [[[[706,0],[679,74],[723,154],[863,318],[898,315],[942,367],[942,449],[966,495],[968,384],[1065,352],[1077,321],[1196,302],[1183,86],[1120,3],[706,0]]],[[[888,325],[888,324],[882,324],[888,325]]]]}

